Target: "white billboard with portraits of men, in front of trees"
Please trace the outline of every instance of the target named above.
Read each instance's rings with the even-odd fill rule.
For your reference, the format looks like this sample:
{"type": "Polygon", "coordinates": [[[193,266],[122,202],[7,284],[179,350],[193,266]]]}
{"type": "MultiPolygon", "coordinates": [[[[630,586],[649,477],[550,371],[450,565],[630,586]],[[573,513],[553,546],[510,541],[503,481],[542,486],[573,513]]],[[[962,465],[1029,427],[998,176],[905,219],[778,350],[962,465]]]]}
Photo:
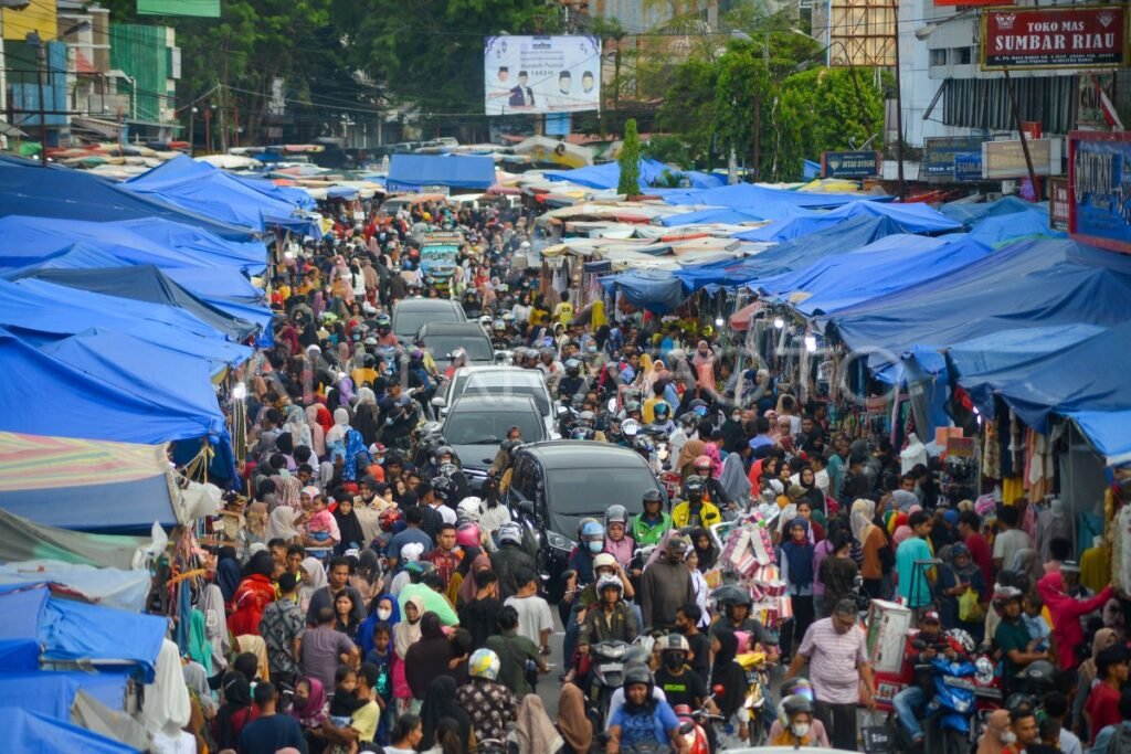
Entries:
{"type": "Polygon", "coordinates": [[[487,115],[601,110],[601,40],[489,36],[483,81],[487,115]]]}

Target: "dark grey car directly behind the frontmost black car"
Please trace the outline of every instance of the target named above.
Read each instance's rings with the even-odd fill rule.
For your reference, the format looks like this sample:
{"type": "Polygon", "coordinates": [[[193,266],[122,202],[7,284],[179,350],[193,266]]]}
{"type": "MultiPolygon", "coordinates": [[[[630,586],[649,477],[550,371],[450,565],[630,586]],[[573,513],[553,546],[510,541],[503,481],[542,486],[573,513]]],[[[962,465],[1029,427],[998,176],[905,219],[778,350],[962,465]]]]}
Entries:
{"type": "Polygon", "coordinates": [[[473,492],[483,486],[499,445],[513,426],[528,440],[546,437],[542,414],[529,396],[464,396],[446,414],[443,439],[459,457],[473,492]]]}

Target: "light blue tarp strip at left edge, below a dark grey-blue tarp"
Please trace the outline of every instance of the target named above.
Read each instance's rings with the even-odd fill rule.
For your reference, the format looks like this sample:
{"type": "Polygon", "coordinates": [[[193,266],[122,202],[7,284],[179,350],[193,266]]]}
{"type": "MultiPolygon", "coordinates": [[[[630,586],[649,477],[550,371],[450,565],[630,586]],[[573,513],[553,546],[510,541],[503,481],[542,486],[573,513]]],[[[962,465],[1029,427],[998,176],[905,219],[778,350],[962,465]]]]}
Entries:
{"type": "Polygon", "coordinates": [[[241,364],[252,354],[248,346],[231,343],[183,310],[38,280],[0,280],[0,326],[28,340],[55,340],[92,327],[118,330],[209,359],[214,372],[224,365],[241,364]],[[207,335],[197,335],[187,323],[207,335]]]}

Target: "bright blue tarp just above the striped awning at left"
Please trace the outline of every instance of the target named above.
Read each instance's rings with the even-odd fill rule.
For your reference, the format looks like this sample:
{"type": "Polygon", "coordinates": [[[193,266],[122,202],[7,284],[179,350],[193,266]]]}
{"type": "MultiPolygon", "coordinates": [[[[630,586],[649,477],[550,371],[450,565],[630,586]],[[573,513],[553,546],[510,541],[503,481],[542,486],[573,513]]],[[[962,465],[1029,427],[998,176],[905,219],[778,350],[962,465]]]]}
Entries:
{"type": "MultiPolygon", "coordinates": [[[[19,375],[0,390],[0,430],[145,444],[209,434],[226,441],[227,428],[218,407],[215,415],[202,415],[199,400],[166,398],[170,389],[153,384],[152,378],[135,385],[123,384],[128,372],[98,364],[96,356],[85,365],[75,356],[64,361],[7,330],[0,330],[0,356],[9,372],[19,375]],[[111,369],[116,378],[106,375],[111,369]]],[[[152,375],[156,367],[159,363],[146,374],[152,375]]],[[[167,384],[176,382],[171,374],[163,378],[167,384]]],[[[204,385],[209,384],[205,376],[204,385]]]]}

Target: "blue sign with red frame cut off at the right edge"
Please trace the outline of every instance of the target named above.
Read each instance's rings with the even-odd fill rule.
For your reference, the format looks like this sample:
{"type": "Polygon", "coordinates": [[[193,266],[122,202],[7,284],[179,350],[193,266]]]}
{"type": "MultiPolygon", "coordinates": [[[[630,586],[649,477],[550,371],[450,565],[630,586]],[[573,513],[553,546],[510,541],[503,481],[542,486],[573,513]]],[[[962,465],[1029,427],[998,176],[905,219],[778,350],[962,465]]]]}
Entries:
{"type": "Polygon", "coordinates": [[[1072,131],[1068,145],[1069,233],[1131,253],[1131,132],[1072,131]]]}

